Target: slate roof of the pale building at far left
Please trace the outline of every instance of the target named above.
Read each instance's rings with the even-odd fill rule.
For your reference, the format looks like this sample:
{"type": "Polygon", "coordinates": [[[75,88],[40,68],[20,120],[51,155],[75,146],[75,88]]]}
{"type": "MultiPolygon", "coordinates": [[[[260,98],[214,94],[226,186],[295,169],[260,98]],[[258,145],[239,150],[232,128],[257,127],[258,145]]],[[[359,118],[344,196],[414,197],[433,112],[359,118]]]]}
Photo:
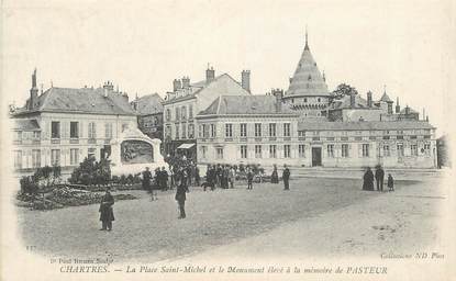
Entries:
{"type": "MultiPolygon", "coordinates": [[[[57,88],[53,87],[38,97],[36,112],[73,112],[92,114],[135,115],[127,99],[119,92],[103,88],[57,88]],[[104,97],[107,93],[107,97],[104,97]]],[[[31,112],[25,109],[18,114],[31,112]]]]}

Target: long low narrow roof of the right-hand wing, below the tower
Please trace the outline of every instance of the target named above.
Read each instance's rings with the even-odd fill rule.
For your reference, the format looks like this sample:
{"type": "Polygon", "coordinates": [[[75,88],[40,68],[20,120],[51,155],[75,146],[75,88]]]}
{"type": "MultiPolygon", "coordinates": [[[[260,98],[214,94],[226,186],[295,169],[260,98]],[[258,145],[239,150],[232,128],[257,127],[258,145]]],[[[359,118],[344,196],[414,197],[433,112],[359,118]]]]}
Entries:
{"type": "Polygon", "coordinates": [[[299,122],[298,131],[376,131],[435,128],[425,121],[299,122]]]}

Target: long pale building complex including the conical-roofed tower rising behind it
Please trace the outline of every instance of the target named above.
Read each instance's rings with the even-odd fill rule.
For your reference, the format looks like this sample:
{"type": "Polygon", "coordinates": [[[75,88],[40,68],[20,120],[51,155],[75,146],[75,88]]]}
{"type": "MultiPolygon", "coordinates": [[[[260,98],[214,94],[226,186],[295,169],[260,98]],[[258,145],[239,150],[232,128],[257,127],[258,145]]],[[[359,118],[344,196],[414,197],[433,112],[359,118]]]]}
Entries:
{"type": "Polygon", "coordinates": [[[275,89],[270,95],[220,97],[198,114],[198,160],[435,168],[435,127],[427,117],[420,120],[409,106],[401,110],[399,100],[393,110],[386,91],[377,101],[372,95],[330,93],[305,34],[285,94],[275,89]]]}

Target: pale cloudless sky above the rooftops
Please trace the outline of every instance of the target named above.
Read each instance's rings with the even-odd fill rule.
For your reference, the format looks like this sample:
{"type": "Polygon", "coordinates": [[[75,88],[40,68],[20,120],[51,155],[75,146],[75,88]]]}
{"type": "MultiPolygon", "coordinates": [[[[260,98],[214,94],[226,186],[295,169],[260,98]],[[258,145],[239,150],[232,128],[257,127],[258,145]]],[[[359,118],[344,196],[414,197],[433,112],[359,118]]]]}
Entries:
{"type": "Polygon", "coordinates": [[[208,64],[236,80],[249,69],[255,94],[287,90],[308,26],[330,90],[346,82],[379,99],[386,86],[442,134],[454,101],[452,2],[3,0],[2,101],[24,104],[35,67],[45,90],[110,80],[130,99],[202,80],[208,64]]]}

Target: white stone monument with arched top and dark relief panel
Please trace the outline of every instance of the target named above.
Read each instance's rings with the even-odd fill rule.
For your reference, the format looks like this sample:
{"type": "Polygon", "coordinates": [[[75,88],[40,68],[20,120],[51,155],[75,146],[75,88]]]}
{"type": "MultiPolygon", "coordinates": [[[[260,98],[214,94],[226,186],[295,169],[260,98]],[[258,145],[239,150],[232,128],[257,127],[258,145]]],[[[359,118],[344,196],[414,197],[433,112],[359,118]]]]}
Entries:
{"type": "Polygon", "coordinates": [[[126,128],[119,138],[110,143],[111,175],[137,175],[146,167],[151,171],[162,167],[168,170],[160,154],[160,139],[152,139],[136,127],[126,128]]]}

